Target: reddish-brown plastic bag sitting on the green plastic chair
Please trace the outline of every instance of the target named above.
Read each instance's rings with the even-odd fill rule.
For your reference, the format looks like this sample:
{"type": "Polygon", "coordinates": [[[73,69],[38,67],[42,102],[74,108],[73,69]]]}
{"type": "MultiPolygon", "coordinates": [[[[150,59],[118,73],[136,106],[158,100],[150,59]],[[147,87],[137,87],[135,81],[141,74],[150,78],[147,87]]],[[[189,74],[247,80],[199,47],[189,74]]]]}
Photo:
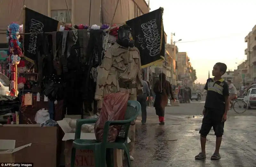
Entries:
{"type": "MultiPolygon", "coordinates": [[[[98,141],[103,140],[105,122],[108,120],[124,120],[129,92],[111,93],[104,97],[100,117],[95,123],[94,132],[98,141]]],[[[114,142],[122,126],[109,126],[108,142],[114,142]]]]}

